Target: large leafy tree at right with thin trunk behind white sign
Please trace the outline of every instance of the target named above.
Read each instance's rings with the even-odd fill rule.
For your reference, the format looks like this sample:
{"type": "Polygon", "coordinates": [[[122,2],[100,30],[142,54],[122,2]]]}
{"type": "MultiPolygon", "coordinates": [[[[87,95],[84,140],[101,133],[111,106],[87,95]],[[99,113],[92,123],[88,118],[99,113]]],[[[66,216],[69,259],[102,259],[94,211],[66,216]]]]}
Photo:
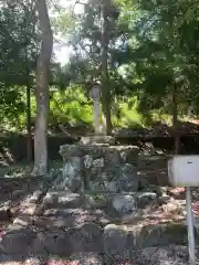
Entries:
{"type": "MultiPolygon", "coordinates": [[[[178,114],[198,105],[198,10],[189,1],[127,0],[123,2],[133,34],[128,35],[130,56],[126,78],[139,94],[144,115],[163,109],[172,115],[171,134],[179,151],[178,114]],[[186,14],[186,17],[184,15],[186,14]],[[135,75],[137,78],[133,78],[135,75]],[[193,96],[195,93],[195,96],[193,96]],[[189,100],[188,100],[189,98],[189,100]],[[184,107],[184,109],[182,109],[184,107]]],[[[124,57],[123,57],[124,59],[124,57]]],[[[124,61],[123,61],[124,62],[124,61]]],[[[192,112],[191,110],[191,112],[192,112]]]]}

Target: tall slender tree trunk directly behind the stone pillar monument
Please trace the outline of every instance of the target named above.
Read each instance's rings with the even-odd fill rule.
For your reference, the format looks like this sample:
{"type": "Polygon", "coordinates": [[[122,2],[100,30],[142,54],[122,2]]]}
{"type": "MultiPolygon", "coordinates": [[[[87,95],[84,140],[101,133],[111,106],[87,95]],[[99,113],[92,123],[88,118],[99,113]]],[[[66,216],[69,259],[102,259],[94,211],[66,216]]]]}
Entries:
{"type": "Polygon", "coordinates": [[[102,0],[101,20],[102,20],[102,112],[103,112],[103,129],[106,135],[112,132],[111,116],[111,89],[108,86],[108,17],[107,7],[109,0],[102,0]]]}

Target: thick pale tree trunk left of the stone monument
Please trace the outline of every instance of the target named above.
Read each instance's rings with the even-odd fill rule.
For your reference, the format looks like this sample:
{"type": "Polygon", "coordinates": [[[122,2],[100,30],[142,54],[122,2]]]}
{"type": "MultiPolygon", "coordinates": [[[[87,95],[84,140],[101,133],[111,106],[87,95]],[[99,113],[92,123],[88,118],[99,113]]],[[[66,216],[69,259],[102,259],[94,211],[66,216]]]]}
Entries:
{"type": "Polygon", "coordinates": [[[33,174],[48,172],[48,118],[49,118],[49,66],[53,46],[53,34],[45,0],[35,0],[41,30],[41,51],[36,65],[36,119],[34,130],[33,174]]]}

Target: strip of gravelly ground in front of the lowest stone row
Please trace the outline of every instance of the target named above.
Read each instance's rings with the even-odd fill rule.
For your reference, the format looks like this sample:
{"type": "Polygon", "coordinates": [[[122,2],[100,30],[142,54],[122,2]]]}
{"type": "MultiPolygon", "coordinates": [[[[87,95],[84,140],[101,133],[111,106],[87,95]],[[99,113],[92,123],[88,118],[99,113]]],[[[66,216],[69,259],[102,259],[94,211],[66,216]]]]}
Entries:
{"type": "MultiPolygon", "coordinates": [[[[197,250],[196,265],[199,264],[197,250]]],[[[185,245],[170,245],[165,247],[147,247],[138,252],[126,253],[126,257],[108,259],[100,253],[77,252],[70,257],[48,255],[8,255],[0,254],[0,263],[3,265],[188,265],[188,247],[185,245]]]]}

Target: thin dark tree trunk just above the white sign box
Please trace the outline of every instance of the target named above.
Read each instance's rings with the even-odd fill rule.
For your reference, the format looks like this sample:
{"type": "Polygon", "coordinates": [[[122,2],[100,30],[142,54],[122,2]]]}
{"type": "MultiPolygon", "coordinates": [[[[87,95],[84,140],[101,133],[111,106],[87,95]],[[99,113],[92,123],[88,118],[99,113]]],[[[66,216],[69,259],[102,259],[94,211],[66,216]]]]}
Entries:
{"type": "Polygon", "coordinates": [[[175,139],[175,155],[180,152],[180,137],[178,131],[178,103],[177,103],[177,87],[172,87],[172,131],[175,139]]]}

